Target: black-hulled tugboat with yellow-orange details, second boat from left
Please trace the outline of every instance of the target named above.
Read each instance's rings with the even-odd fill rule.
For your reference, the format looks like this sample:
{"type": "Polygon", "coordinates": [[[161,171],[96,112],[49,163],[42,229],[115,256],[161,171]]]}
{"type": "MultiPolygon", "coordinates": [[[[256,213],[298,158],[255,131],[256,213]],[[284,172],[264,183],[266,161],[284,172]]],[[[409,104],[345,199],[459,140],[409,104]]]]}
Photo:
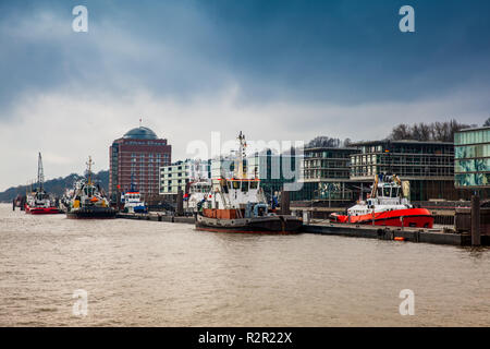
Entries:
{"type": "Polygon", "coordinates": [[[68,218],[115,218],[115,209],[109,207],[103,189],[91,181],[91,157],[87,163],[87,179],[75,184],[73,197],[66,210],[68,218]]]}

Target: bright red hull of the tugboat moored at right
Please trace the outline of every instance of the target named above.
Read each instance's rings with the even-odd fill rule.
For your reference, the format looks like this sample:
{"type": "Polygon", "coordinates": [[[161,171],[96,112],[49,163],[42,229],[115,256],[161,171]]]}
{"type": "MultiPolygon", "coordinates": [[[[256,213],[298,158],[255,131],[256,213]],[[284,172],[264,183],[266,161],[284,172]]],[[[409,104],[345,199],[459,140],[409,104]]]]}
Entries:
{"type": "Polygon", "coordinates": [[[433,216],[426,208],[407,208],[377,212],[375,215],[346,216],[332,214],[331,221],[355,225],[432,228],[433,216]]]}

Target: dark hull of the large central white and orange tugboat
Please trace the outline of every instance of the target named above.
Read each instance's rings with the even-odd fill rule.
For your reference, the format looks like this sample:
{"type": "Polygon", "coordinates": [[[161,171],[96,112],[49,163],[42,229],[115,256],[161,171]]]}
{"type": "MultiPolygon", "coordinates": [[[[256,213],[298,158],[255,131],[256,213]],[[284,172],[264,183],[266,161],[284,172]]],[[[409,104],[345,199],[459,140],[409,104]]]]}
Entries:
{"type": "Polygon", "coordinates": [[[303,221],[295,216],[265,216],[253,218],[222,219],[196,215],[196,229],[217,232],[244,233],[297,233],[303,221]]]}

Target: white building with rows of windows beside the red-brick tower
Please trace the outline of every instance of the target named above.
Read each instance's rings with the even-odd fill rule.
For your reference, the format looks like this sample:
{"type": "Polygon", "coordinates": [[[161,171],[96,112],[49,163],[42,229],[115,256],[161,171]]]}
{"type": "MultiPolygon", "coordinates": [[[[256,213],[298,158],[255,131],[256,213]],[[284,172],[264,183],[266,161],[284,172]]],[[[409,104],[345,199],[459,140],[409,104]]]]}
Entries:
{"type": "Polygon", "coordinates": [[[160,167],[160,195],[176,195],[179,190],[188,193],[188,184],[211,177],[211,161],[186,159],[160,167]]]}

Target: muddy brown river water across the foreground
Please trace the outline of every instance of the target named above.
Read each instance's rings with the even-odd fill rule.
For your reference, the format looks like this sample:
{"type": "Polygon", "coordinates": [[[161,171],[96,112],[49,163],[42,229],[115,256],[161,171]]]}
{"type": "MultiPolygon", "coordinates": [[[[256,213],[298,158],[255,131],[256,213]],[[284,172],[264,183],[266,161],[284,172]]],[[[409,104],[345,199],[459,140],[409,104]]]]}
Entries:
{"type": "Polygon", "coordinates": [[[428,325],[490,325],[489,249],[213,233],[0,205],[0,326],[428,325]],[[85,316],[73,312],[78,289],[85,316]],[[414,315],[399,312],[403,289],[414,315]]]}

